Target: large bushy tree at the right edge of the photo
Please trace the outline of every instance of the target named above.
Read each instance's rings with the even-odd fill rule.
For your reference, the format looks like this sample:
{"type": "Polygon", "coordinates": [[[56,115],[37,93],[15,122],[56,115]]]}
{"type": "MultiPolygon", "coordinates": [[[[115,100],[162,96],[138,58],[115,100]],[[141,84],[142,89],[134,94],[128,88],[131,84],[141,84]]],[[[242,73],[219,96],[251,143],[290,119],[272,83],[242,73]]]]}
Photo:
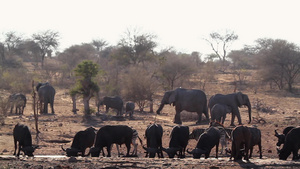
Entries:
{"type": "Polygon", "coordinates": [[[280,90],[286,85],[292,92],[295,80],[300,76],[299,47],[281,39],[258,39],[258,61],[261,76],[274,82],[280,90]]]}

